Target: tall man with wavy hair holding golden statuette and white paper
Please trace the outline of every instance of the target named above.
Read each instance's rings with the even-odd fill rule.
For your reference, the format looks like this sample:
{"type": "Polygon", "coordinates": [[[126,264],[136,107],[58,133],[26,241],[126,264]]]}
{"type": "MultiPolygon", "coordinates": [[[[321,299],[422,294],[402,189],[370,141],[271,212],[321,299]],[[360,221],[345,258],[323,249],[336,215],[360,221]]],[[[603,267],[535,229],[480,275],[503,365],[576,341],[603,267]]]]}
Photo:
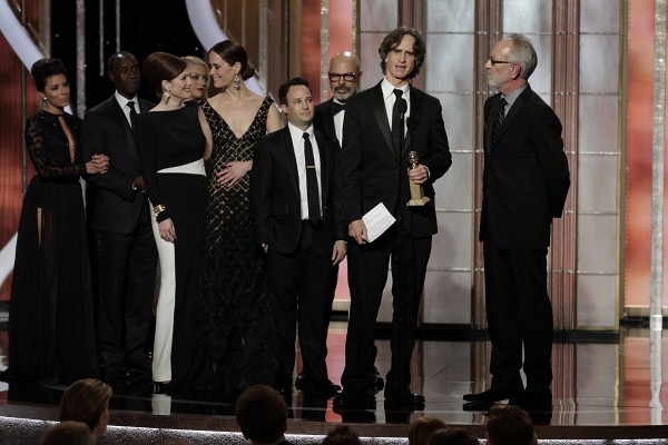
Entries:
{"type": "Polygon", "coordinates": [[[424,397],[410,390],[410,364],[432,236],[436,233],[433,182],[452,164],[441,103],[409,82],[424,61],[422,36],[413,29],[397,28],[385,36],[379,52],[383,80],[346,101],[342,167],[336,175],[348,235],[354,238],[348,254],[351,313],[344,389],[334,400],[341,409],[367,402],[374,327],[390,257],[394,314],[385,400],[391,406],[424,406],[424,397]],[[414,169],[409,168],[411,150],[420,158],[414,169]],[[428,205],[406,207],[410,181],[424,187],[425,196],[431,198],[428,205]],[[396,222],[369,243],[362,217],[379,204],[396,222]]]}

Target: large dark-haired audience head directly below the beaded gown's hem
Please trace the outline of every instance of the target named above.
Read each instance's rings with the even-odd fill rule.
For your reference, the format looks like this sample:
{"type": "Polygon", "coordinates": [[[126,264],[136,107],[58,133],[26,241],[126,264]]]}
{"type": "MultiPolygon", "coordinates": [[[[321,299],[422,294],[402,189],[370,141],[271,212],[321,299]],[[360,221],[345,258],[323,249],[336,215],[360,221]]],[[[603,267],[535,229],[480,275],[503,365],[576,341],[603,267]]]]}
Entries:
{"type": "Polygon", "coordinates": [[[271,386],[250,386],[237,400],[236,421],[244,437],[254,444],[274,444],[287,431],[285,399],[271,386]]]}

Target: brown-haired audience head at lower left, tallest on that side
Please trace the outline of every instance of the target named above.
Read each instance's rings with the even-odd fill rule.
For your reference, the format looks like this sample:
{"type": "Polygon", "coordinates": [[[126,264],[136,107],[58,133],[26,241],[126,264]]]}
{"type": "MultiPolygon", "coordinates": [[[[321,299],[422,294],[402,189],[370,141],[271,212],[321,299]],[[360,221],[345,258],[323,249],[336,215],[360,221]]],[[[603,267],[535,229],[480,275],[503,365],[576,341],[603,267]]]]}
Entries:
{"type": "Polygon", "coordinates": [[[82,422],[97,438],[107,431],[111,387],[97,378],[72,383],[60,399],[60,422],[82,422]]]}

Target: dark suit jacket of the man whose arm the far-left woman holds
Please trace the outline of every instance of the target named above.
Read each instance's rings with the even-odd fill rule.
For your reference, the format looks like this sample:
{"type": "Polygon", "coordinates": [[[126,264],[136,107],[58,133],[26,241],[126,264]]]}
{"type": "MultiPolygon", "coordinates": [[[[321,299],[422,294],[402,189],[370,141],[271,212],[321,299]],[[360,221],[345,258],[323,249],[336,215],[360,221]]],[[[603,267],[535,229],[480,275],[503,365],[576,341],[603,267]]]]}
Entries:
{"type": "MultiPolygon", "coordinates": [[[[139,109],[147,112],[153,105],[139,99],[139,109]]],[[[135,229],[146,202],[146,194],[132,190],[135,177],[141,176],[132,129],[114,96],[86,112],[84,118],[86,159],[105,154],[111,160],[108,171],[90,175],[96,186],[92,228],[129,234],[135,229]]]]}

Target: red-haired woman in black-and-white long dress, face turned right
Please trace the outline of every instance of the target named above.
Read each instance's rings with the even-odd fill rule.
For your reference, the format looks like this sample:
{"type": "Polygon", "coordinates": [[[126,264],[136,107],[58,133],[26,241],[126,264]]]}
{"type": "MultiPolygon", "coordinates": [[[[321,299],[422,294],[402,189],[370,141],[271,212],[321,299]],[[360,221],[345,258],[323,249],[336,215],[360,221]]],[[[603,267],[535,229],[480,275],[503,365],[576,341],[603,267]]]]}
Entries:
{"type": "Polygon", "coordinates": [[[179,388],[193,352],[193,315],[203,237],[206,172],[212,135],[199,107],[184,107],[191,96],[185,60],[154,52],[144,73],[160,102],[137,115],[139,160],[154,209],[154,237],[160,258],[153,379],[179,388]]]}

